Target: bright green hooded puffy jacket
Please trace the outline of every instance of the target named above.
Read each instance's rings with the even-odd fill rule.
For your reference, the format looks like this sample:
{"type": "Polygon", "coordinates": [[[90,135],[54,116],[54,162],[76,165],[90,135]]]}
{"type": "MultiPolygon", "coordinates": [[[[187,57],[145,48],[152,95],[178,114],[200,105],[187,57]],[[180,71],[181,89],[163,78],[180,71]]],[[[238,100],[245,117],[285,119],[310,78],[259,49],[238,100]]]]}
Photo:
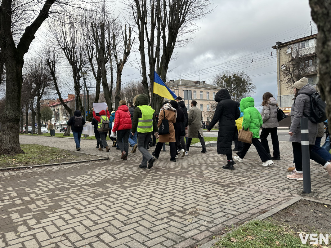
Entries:
{"type": "Polygon", "coordinates": [[[259,110],[254,107],[253,97],[245,97],[241,99],[240,112],[244,113],[244,130],[249,128],[249,131],[253,133],[253,138],[260,139],[260,127],[263,122],[259,110]]]}

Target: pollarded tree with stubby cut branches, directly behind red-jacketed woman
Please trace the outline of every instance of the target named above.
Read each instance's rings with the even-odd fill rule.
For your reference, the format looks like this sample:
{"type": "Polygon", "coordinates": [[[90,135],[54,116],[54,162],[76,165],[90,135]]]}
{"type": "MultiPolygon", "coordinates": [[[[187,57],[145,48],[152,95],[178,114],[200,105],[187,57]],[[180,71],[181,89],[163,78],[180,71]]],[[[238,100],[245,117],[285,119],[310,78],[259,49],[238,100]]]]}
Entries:
{"type": "MultiPolygon", "coordinates": [[[[128,34],[126,33],[126,25],[124,24],[124,33],[122,29],[122,38],[123,38],[123,58],[119,59],[118,58],[118,51],[117,47],[118,44],[116,42],[113,43],[113,52],[114,52],[114,58],[116,61],[116,92],[115,92],[115,109],[118,108],[119,101],[121,100],[121,82],[122,82],[122,71],[124,64],[127,61],[127,58],[130,55],[131,48],[132,48],[132,43],[134,42],[134,38],[131,42],[131,27],[129,27],[129,32],[128,34]]],[[[116,40],[115,33],[113,33],[113,40],[116,40]]]]}

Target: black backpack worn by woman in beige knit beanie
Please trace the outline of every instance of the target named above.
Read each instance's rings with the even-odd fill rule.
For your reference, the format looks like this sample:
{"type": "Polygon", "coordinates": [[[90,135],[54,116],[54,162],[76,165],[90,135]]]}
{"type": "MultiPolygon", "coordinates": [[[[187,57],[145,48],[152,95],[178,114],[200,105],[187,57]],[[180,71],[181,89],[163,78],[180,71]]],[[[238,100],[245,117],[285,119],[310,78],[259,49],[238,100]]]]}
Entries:
{"type": "Polygon", "coordinates": [[[309,115],[304,113],[304,116],[307,117],[312,123],[321,123],[325,121],[327,119],[325,111],[326,103],[322,100],[321,96],[317,92],[313,93],[312,95],[305,95],[310,96],[311,110],[309,115]]]}

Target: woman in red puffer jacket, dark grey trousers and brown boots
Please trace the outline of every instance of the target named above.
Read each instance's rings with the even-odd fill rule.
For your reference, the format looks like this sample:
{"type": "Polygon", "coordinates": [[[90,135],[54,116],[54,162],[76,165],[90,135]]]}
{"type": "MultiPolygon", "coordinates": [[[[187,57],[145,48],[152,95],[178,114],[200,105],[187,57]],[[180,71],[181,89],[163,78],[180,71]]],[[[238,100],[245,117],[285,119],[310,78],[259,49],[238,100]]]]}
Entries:
{"type": "Polygon", "coordinates": [[[131,115],[125,100],[119,101],[119,107],[115,113],[113,132],[116,134],[116,141],[121,150],[121,159],[127,160],[129,152],[129,135],[132,128],[131,115]]]}

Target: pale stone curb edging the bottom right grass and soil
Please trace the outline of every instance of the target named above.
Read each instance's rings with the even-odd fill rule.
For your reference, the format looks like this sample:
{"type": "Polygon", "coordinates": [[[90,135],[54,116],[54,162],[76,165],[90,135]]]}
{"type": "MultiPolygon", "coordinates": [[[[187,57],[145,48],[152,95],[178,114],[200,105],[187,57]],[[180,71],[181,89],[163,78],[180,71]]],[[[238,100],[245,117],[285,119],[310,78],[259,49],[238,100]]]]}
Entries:
{"type": "MultiPolygon", "coordinates": [[[[275,213],[279,212],[280,210],[283,210],[284,208],[287,208],[287,207],[291,206],[292,204],[294,204],[294,203],[300,201],[300,200],[303,199],[303,198],[304,198],[304,197],[302,197],[302,196],[295,197],[295,198],[293,198],[293,199],[291,199],[291,200],[289,200],[289,201],[287,201],[287,202],[285,202],[285,203],[279,205],[278,207],[276,207],[276,208],[274,208],[274,209],[271,209],[271,210],[269,210],[268,212],[266,212],[266,213],[264,213],[264,214],[259,215],[258,217],[254,218],[254,219],[252,219],[252,220],[250,220],[250,221],[254,221],[254,220],[259,220],[259,221],[261,221],[261,220],[264,220],[264,219],[266,219],[266,218],[268,218],[268,217],[274,215],[275,213]]],[[[308,199],[307,199],[307,200],[308,200],[308,199]]],[[[246,223],[245,223],[245,224],[246,224],[246,223]]],[[[241,226],[243,226],[243,225],[245,225],[245,224],[242,224],[242,225],[240,225],[240,226],[238,226],[238,227],[235,227],[235,228],[231,229],[230,231],[228,231],[228,232],[222,234],[219,238],[214,238],[213,240],[207,242],[206,244],[200,245],[199,248],[211,248],[211,247],[213,247],[213,245],[214,245],[215,243],[217,243],[221,238],[223,238],[223,237],[226,236],[227,234],[229,234],[229,233],[231,233],[231,232],[237,230],[239,227],[241,227],[241,226]]]]}

